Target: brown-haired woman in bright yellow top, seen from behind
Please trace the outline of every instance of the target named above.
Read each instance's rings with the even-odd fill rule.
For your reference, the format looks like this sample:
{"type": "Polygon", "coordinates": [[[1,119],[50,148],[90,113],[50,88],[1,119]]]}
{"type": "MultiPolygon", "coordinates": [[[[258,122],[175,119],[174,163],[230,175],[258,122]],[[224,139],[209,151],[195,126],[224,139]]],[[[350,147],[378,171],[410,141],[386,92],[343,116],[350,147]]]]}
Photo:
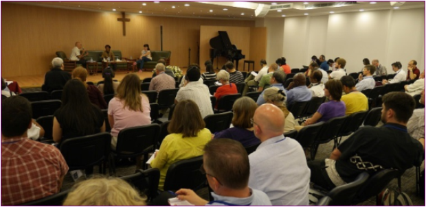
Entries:
{"type": "Polygon", "coordinates": [[[159,190],[163,190],[167,170],[174,162],[203,155],[204,146],[212,139],[197,103],[183,100],[177,103],[172,120],[151,167],[160,170],[159,190]]]}

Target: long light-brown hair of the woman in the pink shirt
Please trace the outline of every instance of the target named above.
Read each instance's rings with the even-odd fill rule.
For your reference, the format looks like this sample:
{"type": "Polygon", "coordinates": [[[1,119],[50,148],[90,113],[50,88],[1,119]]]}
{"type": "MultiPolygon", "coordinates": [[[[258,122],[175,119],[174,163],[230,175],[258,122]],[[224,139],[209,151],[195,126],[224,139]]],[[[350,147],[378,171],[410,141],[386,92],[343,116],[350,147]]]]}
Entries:
{"type": "Polygon", "coordinates": [[[142,90],[140,78],[134,73],[127,74],[117,88],[117,98],[124,101],[124,108],[128,106],[129,110],[135,112],[144,112],[142,110],[142,90]]]}

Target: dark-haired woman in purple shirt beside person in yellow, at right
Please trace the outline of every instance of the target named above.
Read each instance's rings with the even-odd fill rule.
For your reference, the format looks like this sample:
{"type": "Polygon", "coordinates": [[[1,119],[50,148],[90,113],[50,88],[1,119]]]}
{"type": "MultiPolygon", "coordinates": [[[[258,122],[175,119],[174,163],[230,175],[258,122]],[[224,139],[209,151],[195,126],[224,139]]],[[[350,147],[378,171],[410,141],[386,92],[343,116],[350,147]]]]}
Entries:
{"type": "Polygon", "coordinates": [[[328,102],[322,103],[317,112],[313,114],[311,119],[306,119],[304,125],[311,125],[320,121],[328,121],[335,117],[344,117],[346,106],[343,101],[340,101],[343,86],[340,80],[328,80],[324,84],[324,96],[328,97],[328,102]]]}

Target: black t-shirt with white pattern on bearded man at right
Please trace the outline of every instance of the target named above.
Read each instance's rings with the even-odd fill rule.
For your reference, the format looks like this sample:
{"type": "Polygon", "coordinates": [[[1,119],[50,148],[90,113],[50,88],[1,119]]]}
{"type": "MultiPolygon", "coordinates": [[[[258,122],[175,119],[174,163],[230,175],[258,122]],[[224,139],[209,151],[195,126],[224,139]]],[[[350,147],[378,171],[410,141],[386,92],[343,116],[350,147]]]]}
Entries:
{"type": "Polygon", "coordinates": [[[423,154],[423,146],[407,133],[407,127],[393,123],[362,127],[337,149],[341,156],[336,170],[345,182],[365,171],[370,175],[381,169],[405,171],[423,154]]]}

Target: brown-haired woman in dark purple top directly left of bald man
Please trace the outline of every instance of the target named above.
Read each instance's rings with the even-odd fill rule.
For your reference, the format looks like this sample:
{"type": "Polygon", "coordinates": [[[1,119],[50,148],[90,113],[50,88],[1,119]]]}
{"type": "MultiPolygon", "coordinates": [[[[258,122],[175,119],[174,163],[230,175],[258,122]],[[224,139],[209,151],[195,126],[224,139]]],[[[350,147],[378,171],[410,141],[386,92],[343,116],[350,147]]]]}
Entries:
{"type": "Polygon", "coordinates": [[[260,140],[254,136],[253,125],[250,121],[250,119],[253,119],[256,108],[258,108],[258,105],[249,97],[237,99],[232,106],[234,111],[232,125],[234,127],[216,132],[214,138],[231,138],[243,144],[244,147],[259,144],[260,140]]]}

